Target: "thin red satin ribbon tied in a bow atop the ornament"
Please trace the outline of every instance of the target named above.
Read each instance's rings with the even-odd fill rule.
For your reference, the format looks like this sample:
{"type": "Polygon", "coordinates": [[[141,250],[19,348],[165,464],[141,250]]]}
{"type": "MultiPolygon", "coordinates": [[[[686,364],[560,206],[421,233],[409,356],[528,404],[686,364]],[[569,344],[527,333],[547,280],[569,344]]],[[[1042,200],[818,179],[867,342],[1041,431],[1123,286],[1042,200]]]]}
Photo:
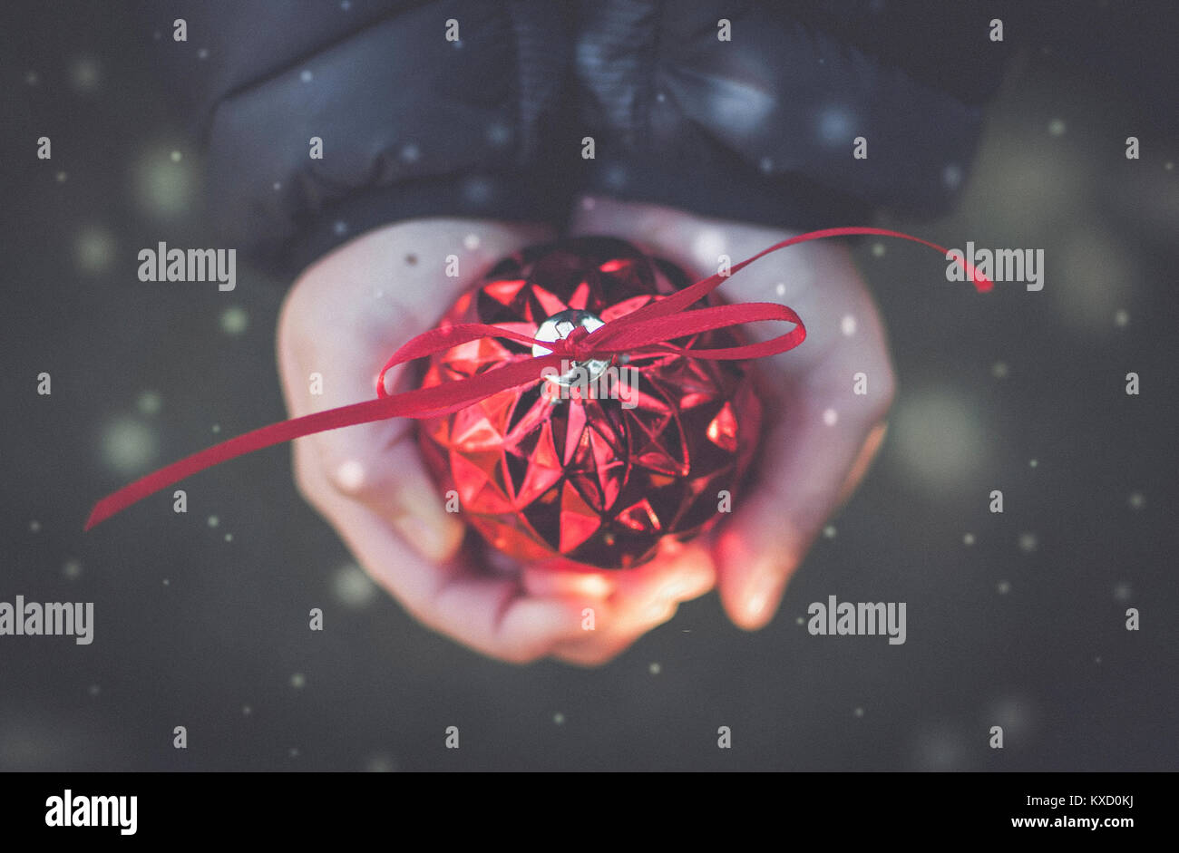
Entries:
{"type": "MultiPolygon", "coordinates": [[[[817,240],[826,237],[851,237],[858,234],[896,237],[930,246],[943,256],[948,253],[948,250],[938,246],[936,243],[929,243],[928,240],[911,237],[900,231],[861,227],[825,229],[822,231],[810,231],[776,243],[769,249],[758,252],[752,258],[733,265],[729,276],[739,272],[770,252],[792,246],[796,243],[806,243],[808,240],[817,240]]],[[[992,282],[979,273],[968,262],[961,259],[960,254],[955,254],[954,259],[966,270],[980,292],[992,289],[992,282]]],[[[493,394],[506,391],[509,388],[519,388],[540,382],[544,378],[546,369],[560,369],[561,362],[566,359],[581,362],[590,358],[612,358],[621,353],[637,355],[645,352],[678,352],[692,358],[710,359],[762,358],[785,352],[803,342],[806,337],[806,329],[803,326],[802,319],[792,310],[777,303],[739,303],[736,305],[702,308],[694,311],[686,310],[690,305],[696,304],[720,286],[725,278],[727,276],[720,273],[709,276],[664,299],[652,302],[637,311],[618,317],[592,332],[584,328],[578,328],[567,338],[560,340],[534,340],[527,335],[480,323],[433,329],[408,342],[388,361],[381,370],[381,376],[377,381],[376,399],[270,424],[269,426],[230,438],[228,442],[215,444],[200,452],[173,462],[171,465],[153,471],[146,477],[137,480],[130,485],[107,495],[94,504],[90,518],[86,520],[85,529],[90,530],[116,513],[126,509],[149,495],[166,489],[185,477],[237,456],[315,432],[340,429],[341,426],[371,423],[390,417],[428,418],[437,415],[447,415],[460,409],[466,409],[468,405],[477,403],[493,394]],[[714,350],[683,349],[667,343],[674,338],[698,332],[726,329],[759,320],[782,320],[793,323],[795,328],[769,340],[714,350]],[[459,344],[488,337],[511,338],[525,344],[540,344],[551,350],[551,355],[514,362],[502,368],[488,370],[479,376],[447,382],[433,388],[420,388],[395,395],[389,395],[386,391],[384,375],[391,368],[437,352],[444,352],[459,344]]]]}

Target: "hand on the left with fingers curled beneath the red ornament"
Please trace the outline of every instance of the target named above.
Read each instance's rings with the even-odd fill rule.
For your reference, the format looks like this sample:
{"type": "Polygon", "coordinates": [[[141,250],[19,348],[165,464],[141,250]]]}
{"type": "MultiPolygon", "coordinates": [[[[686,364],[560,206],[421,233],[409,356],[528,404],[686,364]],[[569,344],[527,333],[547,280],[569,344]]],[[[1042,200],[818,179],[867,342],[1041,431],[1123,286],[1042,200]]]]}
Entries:
{"type": "MultiPolygon", "coordinates": [[[[416,220],[322,258],[292,285],[278,322],[291,416],[371,399],[397,346],[433,329],[500,258],[553,238],[540,226],[416,220]],[[444,275],[448,254],[460,258],[459,278],[444,275]],[[312,394],[314,373],[322,377],[321,395],[312,394]]],[[[399,378],[390,371],[390,388],[399,378]]],[[[477,564],[460,551],[465,525],[446,513],[414,428],[391,419],[299,438],[295,478],[368,573],[435,630],[507,661],[553,655],[595,664],[712,588],[712,561],[698,544],[623,573],[477,564]]]]}

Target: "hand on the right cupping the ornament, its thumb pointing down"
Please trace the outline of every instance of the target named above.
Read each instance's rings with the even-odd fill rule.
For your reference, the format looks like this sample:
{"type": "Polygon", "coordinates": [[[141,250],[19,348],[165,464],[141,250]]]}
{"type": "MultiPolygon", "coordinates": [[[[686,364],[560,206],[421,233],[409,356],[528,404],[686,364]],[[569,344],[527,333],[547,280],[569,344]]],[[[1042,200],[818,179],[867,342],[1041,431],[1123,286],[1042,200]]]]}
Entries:
{"type": "MultiPolygon", "coordinates": [[[[722,254],[736,264],[792,236],[604,198],[579,205],[572,232],[623,237],[679,264],[693,280],[714,275],[722,254]]],[[[806,325],[799,348],[756,362],[766,401],[762,458],[712,548],[725,609],[753,629],[773,617],[823,522],[867,471],[884,438],[894,376],[880,313],[843,244],[791,246],[717,292],[727,302],[784,303],[806,325]],[[867,377],[862,396],[852,391],[857,373],[867,377]]],[[[750,337],[783,330],[758,324],[750,337]]]]}

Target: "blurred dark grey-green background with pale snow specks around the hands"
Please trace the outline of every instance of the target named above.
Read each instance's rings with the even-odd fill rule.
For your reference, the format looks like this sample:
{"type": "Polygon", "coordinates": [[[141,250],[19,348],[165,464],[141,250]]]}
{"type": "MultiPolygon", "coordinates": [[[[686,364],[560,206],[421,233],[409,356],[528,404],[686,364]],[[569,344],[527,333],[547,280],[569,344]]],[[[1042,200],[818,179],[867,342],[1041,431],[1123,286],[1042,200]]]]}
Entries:
{"type": "Polygon", "coordinates": [[[232,293],[136,276],[159,240],[218,245],[199,150],[143,61],[170,22],[4,11],[0,601],[93,601],[95,639],[0,637],[0,769],[1177,768],[1179,148],[1154,123],[1173,112],[1025,49],[954,214],[847,224],[1042,247],[1045,289],[976,297],[928,250],[858,245],[900,392],[775,622],[745,634],[710,595],[600,669],[518,668],[373,587],[286,448],[187,482],[187,515],[162,495],[81,533],[98,497],[284,416],[288,282],[241,256],[232,293]],[[832,594],[907,602],[908,642],[810,636],[832,594]]]}

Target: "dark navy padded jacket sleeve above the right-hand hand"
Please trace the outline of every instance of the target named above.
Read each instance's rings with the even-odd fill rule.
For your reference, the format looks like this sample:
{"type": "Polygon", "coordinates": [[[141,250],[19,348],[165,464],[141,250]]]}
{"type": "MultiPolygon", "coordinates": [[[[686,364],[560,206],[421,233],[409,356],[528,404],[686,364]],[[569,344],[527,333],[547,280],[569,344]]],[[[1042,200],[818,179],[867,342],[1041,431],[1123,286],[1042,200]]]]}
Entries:
{"type": "Polygon", "coordinates": [[[882,0],[584,0],[590,187],[790,229],[935,214],[1008,49],[994,7],[882,0]],[[720,21],[730,40],[722,40],[720,21]],[[867,159],[852,157],[857,137],[867,159]]]}

